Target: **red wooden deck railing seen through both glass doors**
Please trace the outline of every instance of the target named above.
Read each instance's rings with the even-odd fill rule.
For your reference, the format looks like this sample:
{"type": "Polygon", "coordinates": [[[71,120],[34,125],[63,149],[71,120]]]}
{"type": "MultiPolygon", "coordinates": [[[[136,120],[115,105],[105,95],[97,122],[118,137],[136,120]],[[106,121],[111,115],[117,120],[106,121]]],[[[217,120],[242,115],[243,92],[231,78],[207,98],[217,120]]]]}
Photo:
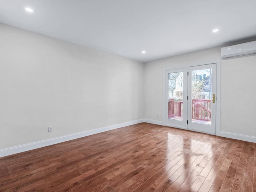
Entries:
{"type": "MultiPolygon", "coordinates": [[[[192,119],[211,120],[212,102],[210,99],[192,99],[192,119]]],[[[169,99],[168,102],[168,118],[182,117],[183,102],[174,102],[169,99]]]]}

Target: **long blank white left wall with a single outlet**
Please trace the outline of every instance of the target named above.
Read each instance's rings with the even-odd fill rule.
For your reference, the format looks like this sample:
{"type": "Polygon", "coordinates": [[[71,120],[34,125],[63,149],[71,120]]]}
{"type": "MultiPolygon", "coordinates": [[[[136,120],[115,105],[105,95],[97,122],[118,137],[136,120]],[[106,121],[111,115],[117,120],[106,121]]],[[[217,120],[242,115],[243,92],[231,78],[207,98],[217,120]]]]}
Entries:
{"type": "Polygon", "coordinates": [[[142,119],[143,72],[141,62],[0,24],[0,149],[142,119]]]}

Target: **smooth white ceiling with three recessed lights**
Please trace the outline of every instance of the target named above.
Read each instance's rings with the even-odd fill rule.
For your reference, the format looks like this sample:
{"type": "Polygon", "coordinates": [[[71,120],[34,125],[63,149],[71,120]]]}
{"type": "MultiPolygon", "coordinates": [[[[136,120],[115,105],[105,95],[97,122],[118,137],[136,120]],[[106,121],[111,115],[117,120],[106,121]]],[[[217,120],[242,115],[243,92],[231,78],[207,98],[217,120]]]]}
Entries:
{"type": "Polygon", "coordinates": [[[148,62],[255,37],[256,0],[1,0],[0,22],[148,62]]]}

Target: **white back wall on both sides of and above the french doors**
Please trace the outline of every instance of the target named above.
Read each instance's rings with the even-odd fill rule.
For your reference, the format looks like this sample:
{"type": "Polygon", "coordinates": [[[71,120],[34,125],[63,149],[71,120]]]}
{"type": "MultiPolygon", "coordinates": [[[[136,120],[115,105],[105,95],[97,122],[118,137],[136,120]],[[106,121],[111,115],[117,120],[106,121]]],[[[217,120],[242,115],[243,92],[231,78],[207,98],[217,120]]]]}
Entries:
{"type": "MultiPolygon", "coordinates": [[[[144,111],[145,118],[162,121],[162,81],[164,68],[180,68],[188,64],[200,64],[220,60],[220,48],[191,52],[145,63],[144,111]],[[157,114],[160,117],[157,118],[157,114]]],[[[254,137],[256,130],[256,56],[221,61],[220,131],[254,137]]],[[[217,96],[218,97],[218,96],[217,96]]],[[[231,136],[225,134],[224,136],[231,136]]],[[[234,138],[239,138],[234,136],[234,138]]],[[[246,139],[240,137],[240,139],[246,139]]],[[[250,139],[249,139],[250,140],[250,139]]]]}

